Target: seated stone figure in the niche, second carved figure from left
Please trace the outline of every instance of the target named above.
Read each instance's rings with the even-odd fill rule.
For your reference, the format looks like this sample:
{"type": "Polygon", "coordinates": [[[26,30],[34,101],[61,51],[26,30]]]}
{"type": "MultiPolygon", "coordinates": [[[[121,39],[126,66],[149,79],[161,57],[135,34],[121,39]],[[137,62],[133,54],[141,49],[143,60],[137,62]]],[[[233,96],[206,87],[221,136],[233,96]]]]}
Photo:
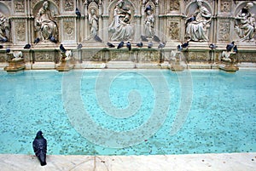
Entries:
{"type": "Polygon", "coordinates": [[[39,9],[36,17],[36,28],[37,31],[40,31],[43,40],[48,40],[51,37],[57,39],[58,37],[58,27],[51,16],[48,1],[44,2],[43,7],[39,9]]]}

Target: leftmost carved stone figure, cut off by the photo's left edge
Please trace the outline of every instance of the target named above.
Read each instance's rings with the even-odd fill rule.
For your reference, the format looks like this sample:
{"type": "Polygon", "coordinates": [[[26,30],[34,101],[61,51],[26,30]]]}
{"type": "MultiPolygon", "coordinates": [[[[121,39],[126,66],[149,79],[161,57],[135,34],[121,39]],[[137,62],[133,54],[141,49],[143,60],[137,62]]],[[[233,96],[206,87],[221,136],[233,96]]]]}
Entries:
{"type": "Polygon", "coordinates": [[[9,19],[0,13],[0,42],[6,43],[9,39],[9,19]]]}

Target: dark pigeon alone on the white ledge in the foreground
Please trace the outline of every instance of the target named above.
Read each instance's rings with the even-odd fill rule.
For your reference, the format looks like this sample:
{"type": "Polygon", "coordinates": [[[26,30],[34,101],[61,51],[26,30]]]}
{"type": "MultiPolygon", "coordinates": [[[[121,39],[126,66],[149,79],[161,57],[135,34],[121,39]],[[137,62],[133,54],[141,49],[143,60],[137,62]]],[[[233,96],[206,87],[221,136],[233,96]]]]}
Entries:
{"type": "Polygon", "coordinates": [[[38,131],[32,146],[41,166],[46,165],[47,140],[44,139],[42,131],[38,131]]]}

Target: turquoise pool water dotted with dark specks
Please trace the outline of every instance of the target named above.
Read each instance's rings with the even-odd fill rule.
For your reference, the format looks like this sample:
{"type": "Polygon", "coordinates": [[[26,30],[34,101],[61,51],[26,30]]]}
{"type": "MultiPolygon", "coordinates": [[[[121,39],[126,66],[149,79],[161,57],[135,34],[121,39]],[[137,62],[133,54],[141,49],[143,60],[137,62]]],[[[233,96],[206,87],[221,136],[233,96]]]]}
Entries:
{"type": "MultiPolygon", "coordinates": [[[[96,95],[96,91],[100,91],[96,84],[98,88],[105,86],[99,78],[100,73],[105,72],[119,73],[115,70],[70,71],[68,77],[81,75],[79,98],[91,120],[102,128],[117,132],[135,130],[148,122],[156,103],[156,89],[148,76],[163,75],[168,88],[160,91],[169,95],[169,108],[164,123],[152,136],[138,141],[136,145],[126,144],[124,148],[95,144],[82,136],[70,122],[63,98],[66,94],[66,85],[63,84],[65,73],[22,71],[8,74],[0,71],[0,153],[32,154],[32,140],[38,130],[42,130],[48,140],[48,154],[154,155],[256,151],[256,71],[190,71],[191,83],[186,81],[188,71],[177,75],[167,70],[145,70],[146,77],[136,70],[122,71],[109,78],[112,81],[108,89],[109,107],[125,110],[132,105],[129,104],[131,101],[141,101],[131,116],[122,118],[122,113],[120,117],[113,117],[108,109],[99,105],[97,98],[101,97],[96,95]],[[181,88],[189,88],[192,92],[182,94],[181,88]],[[127,96],[131,91],[139,96],[129,101],[127,96]],[[181,106],[183,96],[193,99],[181,106]],[[178,110],[188,108],[182,127],[176,134],[170,134],[178,110]]],[[[75,84],[71,80],[70,86],[75,84]]],[[[75,106],[73,110],[76,110],[75,106]]],[[[88,121],[83,118],[81,121],[84,123],[82,127],[86,128],[88,121]]]]}

